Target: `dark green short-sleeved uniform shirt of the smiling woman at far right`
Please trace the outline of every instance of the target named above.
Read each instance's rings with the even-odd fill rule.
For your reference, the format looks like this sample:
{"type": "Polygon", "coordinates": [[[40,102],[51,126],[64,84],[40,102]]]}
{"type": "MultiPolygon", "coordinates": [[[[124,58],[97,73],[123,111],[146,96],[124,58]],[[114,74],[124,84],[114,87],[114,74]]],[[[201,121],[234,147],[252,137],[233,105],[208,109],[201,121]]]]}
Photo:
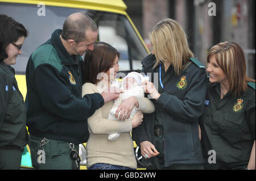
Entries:
{"type": "Polygon", "coordinates": [[[236,98],[228,92],[221,99],[220,83],[209,83],[200,127],[207,164],[208,151],[214,150],[217,163],[246,165],[255,140],[255,90],[248,86],[236,98]]]}

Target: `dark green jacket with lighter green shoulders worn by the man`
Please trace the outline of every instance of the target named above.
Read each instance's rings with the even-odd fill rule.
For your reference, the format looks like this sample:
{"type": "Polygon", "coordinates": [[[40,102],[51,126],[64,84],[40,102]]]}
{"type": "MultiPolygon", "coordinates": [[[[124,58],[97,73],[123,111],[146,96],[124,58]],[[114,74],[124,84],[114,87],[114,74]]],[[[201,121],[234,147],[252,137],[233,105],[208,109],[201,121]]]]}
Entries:
{"type": "Polygon", "coordinates": [[[70,56],[62,30],[33,52],[26,68],[27,127],[33,136],[80,144],[89,138],[87,118],[104,105],[98,93],[81,96],[81,56],[70,56]]]}

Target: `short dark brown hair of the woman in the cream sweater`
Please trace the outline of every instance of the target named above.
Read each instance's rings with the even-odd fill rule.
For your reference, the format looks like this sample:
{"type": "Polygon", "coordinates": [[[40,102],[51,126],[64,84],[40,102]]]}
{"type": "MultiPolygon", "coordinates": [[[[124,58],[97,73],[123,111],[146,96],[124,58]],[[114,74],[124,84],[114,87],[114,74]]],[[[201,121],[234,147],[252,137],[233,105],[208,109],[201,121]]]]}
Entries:
{"type": "Polygon", "coordinates": [[[94,43],[93,50],[87,50],[82,66],[82,83],[98,83],[97,75],[108,71],[114,64],[115,57],[119,58],[120,53],[105,42],[94,43]]]}

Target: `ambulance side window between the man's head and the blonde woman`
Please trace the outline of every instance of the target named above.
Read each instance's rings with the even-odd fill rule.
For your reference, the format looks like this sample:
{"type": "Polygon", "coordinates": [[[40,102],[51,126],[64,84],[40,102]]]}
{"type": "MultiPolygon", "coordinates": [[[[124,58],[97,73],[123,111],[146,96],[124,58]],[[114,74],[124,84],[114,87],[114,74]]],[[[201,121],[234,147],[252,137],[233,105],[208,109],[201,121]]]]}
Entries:
{"type": "Polygon", "coordinates": [[[121,53],[119,71],[141,70],[147,56],[129,20],[124,15],[102,12],[97,18],[99,41],[105,41],[121,53]]]}

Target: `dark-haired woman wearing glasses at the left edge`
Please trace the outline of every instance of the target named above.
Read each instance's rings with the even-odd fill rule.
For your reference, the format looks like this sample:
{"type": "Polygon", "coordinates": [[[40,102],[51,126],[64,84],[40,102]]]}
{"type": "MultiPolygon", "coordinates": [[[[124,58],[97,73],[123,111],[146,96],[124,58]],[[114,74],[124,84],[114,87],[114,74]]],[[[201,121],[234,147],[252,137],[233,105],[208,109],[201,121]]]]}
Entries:
{"type": "Polygon", "coordinates": [[[0,15],[0,169],[19,169],[28,142],[26,106],[10,66],[22,54],[26,37],[22,24],[0,15]]]}

